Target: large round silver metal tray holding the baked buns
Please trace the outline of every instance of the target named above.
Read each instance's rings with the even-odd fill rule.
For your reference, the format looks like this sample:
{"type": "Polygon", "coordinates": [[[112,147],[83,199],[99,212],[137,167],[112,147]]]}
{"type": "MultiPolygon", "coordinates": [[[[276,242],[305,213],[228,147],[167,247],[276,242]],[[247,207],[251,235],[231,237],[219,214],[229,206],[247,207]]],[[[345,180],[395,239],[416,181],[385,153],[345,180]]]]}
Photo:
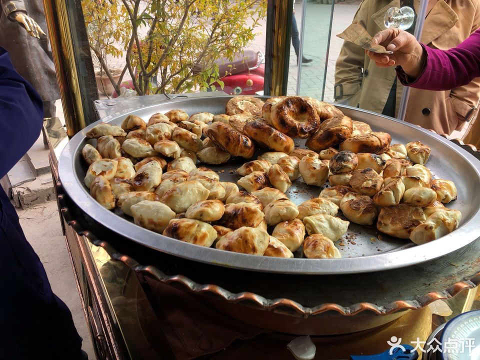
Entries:
{"type": "MultiPolygon", "coordinates": [[[[181,108],[187,113],[199,111],[223,113],[225,104],[230,98],[231,96],[209,96],[171,100],[159,105],[139,107],[103,120],[120,124],[127,114],[148,119],[155,112],[166,112],[174,108],[181,108]]],[[[357,108],[342,105],[338,107],[351,118],[367,122],[373,130],[390,133],[392,143],[419,140],[431,147],[428,168],[435,177],[453,180],[458,189],[458,199],[448,205],[461,210],[462,221],[457,230],[438,240],[416,246],[408,240],[395,239],[384,234],[378,236],[375,228],[351,224],[347,238],[337,242],[342,258],[321,260],[253,256],[178,241],[135,225],[131,218],[106,210],[90,196],[83,184],[87,166],[81,158],[81,149],[87,142],[94,144],[95,140],[87,139],[85,132],[96,123],[74,135],[64,148],[59,159],[60,181],[66,193],[83,211],[102,225],[133,241],[195,261],[256,271],[335,274],[387,270],[440,257],[480,236],[478,230],[480,192],[477,190],[480,187],[480,166],[477,159],[441,136],[417,126],[357,108]]],[[[223,166],[208,167],[219,171],[221,180],[236,182],[239,176],[230,173],[230,170],[237,168],[242,162],[244,160],[234,159],[223,166]]],[[[298,204],[305,199],[316,197],[320,190],[318,187],[307,186],[301,180],[296,180],[287,194],[298,204]]],[[[295,256],[301,256],[301,252],[295,256]]]]}

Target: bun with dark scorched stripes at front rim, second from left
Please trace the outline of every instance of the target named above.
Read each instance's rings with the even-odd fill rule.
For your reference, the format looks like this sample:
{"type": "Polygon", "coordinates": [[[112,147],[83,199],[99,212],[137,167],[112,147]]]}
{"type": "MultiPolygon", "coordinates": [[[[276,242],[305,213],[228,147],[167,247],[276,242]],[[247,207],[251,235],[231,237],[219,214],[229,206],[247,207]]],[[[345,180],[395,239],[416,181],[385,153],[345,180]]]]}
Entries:
{"type": "Polygon", "coordinates": [[[205,247],[210,247],[216,239],[213,226],[188,218],[171,219],[163,230],[163,235],[205,247]]]}

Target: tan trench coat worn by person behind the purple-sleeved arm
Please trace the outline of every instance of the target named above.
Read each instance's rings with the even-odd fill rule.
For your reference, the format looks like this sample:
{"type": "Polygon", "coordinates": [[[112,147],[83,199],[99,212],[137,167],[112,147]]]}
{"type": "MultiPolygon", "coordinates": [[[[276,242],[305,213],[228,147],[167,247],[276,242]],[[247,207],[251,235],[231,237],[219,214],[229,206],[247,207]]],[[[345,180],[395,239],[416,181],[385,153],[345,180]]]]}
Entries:
{"type": "MultiPolygon", "coordinates": [[[[419,4],[419,0],[415,0],[416,11],[419,4]]],[[[374,35],[384,28],[386,10],[399,5],[399,0],[363,0],[353,21],[374,35]]],[[[480,26],[479,6],[480,0],[438,0],[425,18],[421,42],[441,49],[456,46],[480,26]]],[[[340,89],[335,86],[335,98],[351,106],[381,113],[394,78],[393,67],[376,66],[361,47],[345,41],[335,69],[335,84],[342,84],[343,96],[338,96],[340,89]]],[[[402,91],[403,86],[397,81],[396,115],[402,91]]],[[[465,116],[475,119],[479,98],[480,78],[451,91],[411,89],[405,121],[450,134],[463,126],[465,116]]]]}

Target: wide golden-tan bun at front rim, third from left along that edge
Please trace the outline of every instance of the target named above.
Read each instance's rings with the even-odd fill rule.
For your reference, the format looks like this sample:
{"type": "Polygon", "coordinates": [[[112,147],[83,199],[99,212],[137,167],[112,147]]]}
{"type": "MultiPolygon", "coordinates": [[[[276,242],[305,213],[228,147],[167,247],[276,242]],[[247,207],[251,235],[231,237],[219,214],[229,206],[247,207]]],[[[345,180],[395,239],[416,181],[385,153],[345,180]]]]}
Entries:
{"type": "Polygon", "coordinates": [[[220,250],[263,255],[269,242],[268,232],[258,227],[243,226],[220,237],[215,247],[220,250]]]}

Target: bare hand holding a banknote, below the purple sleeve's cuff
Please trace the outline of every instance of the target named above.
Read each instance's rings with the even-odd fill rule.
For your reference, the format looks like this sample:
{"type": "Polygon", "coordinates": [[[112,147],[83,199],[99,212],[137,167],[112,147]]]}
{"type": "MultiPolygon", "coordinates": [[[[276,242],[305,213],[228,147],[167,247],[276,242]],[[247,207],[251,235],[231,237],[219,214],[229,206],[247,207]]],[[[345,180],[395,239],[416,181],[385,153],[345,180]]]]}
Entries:
{"type": "Polygon", "coordinates": [[[397,28],[382,30],[373,36],[373,40],[385,46],[392,54],[379,54],[366,51],[367,55],[379,67],[400,65],[410,77],[420,74],[424,62],[423,48],[412,34],[397,28]]]}

